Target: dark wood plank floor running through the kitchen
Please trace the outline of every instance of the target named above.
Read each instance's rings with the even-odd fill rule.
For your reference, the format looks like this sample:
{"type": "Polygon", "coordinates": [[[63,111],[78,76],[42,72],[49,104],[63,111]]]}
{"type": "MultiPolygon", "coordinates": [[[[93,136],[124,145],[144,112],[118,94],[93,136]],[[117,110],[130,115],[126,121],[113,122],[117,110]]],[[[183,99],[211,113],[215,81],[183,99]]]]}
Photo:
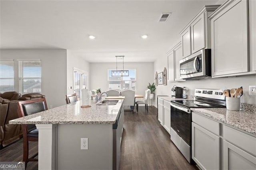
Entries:
{"type": "MultiPolygon", "coordinates": [[[[155,107],[140,106],[139,112],[124,112],[120,170],[197,170],[190,165],[160,125],[155,107]]],[[[30,144],[30,154],[38,150],[30,144]]],[[[0,161],[22,161],[22,139],[0,150],[0,161]]],[[[27,170],[37,170],[37,162],[28,162],[27,170]]]]}

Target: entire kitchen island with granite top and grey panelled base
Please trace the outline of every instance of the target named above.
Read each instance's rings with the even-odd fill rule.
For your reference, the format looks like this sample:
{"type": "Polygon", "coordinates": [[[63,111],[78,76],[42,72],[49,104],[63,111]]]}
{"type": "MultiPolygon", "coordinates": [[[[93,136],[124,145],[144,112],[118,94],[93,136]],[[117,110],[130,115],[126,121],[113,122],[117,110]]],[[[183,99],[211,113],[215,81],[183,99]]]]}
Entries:
{"type": "Polygon", "coordinates": [[[116,105],[81,108],[77,101],[10,124],[36,124],[39,130],[38,169],[118,169],[124,121],[123,99],[116,105]],[[81,150],[88,138],[88,150],[81,150]]]}

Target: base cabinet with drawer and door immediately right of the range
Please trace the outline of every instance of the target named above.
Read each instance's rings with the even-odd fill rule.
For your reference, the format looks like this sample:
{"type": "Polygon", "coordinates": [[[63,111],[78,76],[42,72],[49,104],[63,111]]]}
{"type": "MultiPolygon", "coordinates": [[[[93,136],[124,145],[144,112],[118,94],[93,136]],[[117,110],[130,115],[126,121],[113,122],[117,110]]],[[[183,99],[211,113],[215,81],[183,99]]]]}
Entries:
{"type": "Polygon", "coordinates": [[[220,169],[219,123],[192,112],[192,159],[202,170],[220,169]]]}

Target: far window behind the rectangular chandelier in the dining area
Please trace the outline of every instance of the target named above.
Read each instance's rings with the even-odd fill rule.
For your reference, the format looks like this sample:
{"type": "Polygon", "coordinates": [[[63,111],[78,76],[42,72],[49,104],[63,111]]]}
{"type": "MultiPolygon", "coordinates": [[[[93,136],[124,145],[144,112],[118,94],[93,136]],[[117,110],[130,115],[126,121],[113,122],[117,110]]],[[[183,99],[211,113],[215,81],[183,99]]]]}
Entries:
{"type": "Polygon", "coordinates": [[[111,76],[111,71],[115,69],[108,69],[108,89],[130,89],[136,91],[136,69],[128,69],[129,76],[116,77],[111,76]]]}

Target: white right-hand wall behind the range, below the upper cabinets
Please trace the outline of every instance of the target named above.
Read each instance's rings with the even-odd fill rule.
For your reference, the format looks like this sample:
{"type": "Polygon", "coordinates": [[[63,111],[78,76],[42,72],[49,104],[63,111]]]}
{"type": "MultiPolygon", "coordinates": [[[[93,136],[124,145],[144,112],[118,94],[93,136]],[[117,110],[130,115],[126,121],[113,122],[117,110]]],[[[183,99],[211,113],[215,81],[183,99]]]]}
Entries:
{"type": "MultiPolygon", "coordinates": [[[[167,56],[162,54],[161,57],[159,57],[154,62],[154,73],[156,71],[158,73],[163,71],[164,67],[167,68],[167,56]]],[[[186,86],[188,88],[188,95],[194,95],[194,91],[196,88],[222,89],[222,87],[227,87],[228,89],[232,89],[242,86],[244,94],[241,97],[241,103],[256,104],[256,96],[249,95],[249,85],[256,85],[256,76],[209,78],[200,80],[180,81],[174,83],[168,82],[167,86],[156,86],[156,95],[173,95],[171,89],[174,85],[178,87],[186,86]]]]}

